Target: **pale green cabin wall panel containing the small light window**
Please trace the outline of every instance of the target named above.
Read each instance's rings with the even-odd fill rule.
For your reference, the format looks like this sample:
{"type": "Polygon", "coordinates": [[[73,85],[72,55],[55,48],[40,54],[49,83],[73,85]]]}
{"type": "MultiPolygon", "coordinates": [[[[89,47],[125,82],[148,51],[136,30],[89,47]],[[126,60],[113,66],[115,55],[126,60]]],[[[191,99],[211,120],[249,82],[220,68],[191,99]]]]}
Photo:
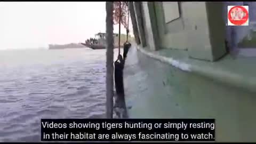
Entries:
{"type": "Polygon", "coordinates": [[[188,49],[183,2],[155,2],[155,21],[159,45],[163,49],[188,49]]]}

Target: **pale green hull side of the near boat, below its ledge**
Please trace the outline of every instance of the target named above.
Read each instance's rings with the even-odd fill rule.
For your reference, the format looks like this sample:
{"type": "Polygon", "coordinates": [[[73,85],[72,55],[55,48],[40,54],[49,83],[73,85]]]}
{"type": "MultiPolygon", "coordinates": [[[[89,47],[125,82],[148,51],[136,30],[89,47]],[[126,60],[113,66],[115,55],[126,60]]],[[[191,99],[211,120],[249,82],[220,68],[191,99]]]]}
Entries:
{"type": "Polygon", "coordinates": [[[124,69],[130,118],[215,118],[218,142],[255,142],[256,97],[130,49],[124,69]]]}

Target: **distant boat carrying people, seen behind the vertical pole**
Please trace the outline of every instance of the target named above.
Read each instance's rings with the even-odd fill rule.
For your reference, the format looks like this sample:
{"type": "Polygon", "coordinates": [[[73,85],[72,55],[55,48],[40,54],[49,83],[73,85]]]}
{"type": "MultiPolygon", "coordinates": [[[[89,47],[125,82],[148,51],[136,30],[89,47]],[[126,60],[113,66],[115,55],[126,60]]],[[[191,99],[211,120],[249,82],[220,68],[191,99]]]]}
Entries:
{"type": "MultiPolygon", "coordinates": [[[[118,45],[118,34],[113,34],[114,37],[114,48],[117,49],[119,47],[118,45]]],[[[126,35],[125,34],[121,34],[121,44],[124,43],[126,41],[126,35]]],[[[129,38],[132,39],[131,35],[129,35],[129,38]]],[[[95,38],[96,42],[90,42],[90,41],[85,41],[85,43],[81,43],[82,45],[89,47],[90,49],[93,50],[99,50],[99,49],[106,49],[106,33],[97,33],[95,34],[95,38]]],[[[121,45],[121,47],[123,47],[123,45],[121,45]]]]}

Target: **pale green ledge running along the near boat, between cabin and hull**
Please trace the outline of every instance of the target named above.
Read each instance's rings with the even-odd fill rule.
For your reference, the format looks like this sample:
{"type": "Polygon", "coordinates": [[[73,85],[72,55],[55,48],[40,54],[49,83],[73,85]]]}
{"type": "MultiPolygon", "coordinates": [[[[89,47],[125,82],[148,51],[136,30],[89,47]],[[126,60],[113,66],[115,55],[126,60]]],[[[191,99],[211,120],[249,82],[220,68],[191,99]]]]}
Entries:
{"type": "Polygon", "coordinates": [[[245,91],[256,92],[256,58],[233,59],[230,55],[216,61],[191,59],[187,51],[163,49],[150,51],[136,46],[137,50],[150,58],[167,63],[188,73],[194,73],[245,91]]]}

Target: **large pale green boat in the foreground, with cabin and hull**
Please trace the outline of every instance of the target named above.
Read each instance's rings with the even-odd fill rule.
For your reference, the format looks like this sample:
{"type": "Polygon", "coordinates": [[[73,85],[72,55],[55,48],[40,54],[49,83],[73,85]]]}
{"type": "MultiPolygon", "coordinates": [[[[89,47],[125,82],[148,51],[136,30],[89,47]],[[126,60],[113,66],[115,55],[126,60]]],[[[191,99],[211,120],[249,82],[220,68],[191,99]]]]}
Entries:
{"type": "Polygon", "coordinates": [[[243,2],[130,5],[135,42],[123,71],[129,118],[214,118],[217,142],[255,142],[256,58],[234,57],[242,33],[226,26],[227,5],[243,2]]]}

